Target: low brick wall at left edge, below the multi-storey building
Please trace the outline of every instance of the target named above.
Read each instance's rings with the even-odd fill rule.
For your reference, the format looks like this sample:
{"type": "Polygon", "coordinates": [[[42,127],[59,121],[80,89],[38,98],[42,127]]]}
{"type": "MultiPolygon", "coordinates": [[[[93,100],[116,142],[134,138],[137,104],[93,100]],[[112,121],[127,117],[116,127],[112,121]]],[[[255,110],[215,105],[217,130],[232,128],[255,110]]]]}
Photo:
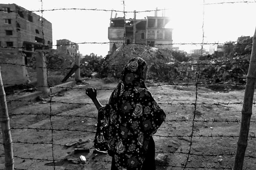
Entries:
{"type": "MultiPolygon", "coordinates": [[[[17,66],[12,64],[25,64],[24,56],[18,50],[1,49],[0,50],[0,70],[3,84],[26,84],[26,68],[25,66],[17,66]]],[[[10,85],[6,85],[10,86],[10,85]]]]}

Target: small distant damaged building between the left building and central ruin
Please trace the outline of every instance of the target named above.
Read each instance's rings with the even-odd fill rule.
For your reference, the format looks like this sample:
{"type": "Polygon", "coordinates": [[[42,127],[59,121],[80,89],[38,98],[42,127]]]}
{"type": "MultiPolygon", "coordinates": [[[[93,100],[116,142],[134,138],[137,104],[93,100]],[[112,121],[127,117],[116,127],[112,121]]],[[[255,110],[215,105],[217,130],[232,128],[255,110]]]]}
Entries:
{"type": "Polygon", "coordinates": [[[57,50],[60,50],[65,54],[69,54],[72,58],[75,58],[77,55],[79,55],[78,44],[67,39],[57,40],[57,50]]]}

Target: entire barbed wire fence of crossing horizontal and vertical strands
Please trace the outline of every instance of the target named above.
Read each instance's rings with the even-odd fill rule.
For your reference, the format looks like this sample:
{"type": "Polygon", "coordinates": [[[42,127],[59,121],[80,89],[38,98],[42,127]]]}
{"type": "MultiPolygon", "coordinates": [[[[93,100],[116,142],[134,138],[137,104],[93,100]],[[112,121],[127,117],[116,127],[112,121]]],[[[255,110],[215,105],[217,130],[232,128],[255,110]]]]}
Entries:
{"type": "MultiPolygon", "coordinates": [[[[43,25],[44,25],[44,22],[43,22],[43,12],[44,11],[56,11],[56,10],[85,10],[85,11],[116,11],[116,12],[123,12],[124,13],[124,40],[123,40],[123,43],[117,43],[117,42],[81,42],[81,43],[75,43],[75,44],[109,44],[109,43],[116,43],[116,44],[122,44],[123,45],[123,57],[125,59],[125,50],[124,50],[124,46],[126,44],[125,42],[125,37],[126,37],[126,33],[125,33],[125,17],[126,17],[126,13],[141,13],[141,12],[151,12],[151,11],[162,11],[163,9],[161,10],[146,10],[146,11],[125,11],[125,1],[123,0],[122,1],[123,3],[123,11],[118,11],[118,10],[105,10],[105,9],[80,9],[80,8],[60,8],[60,9],[49,9],[49,10],[44,10],[43,9],[43,0],[41,0],[41,10],[36,10],[36,11],[21,11],[21,12],[41,12],[41,16],[42,16],[42,21],[41,21],[41,26],[42,26],[42,33],[43,33],[43,39],[44,39],[44,28],[43,28],[43,25]]],[[[199,60],[197,63],[182,63],[182,64],[177,64],[177,63],[174,63],[174,64],[153,64],[153,63],[148,63],[148,65],[166,65],[166,66],[179,66],[179,67],[182,67],[182,66],[188,66],[188,65],[195,65],[197,66],[197,78],[196,78],[196,83],[166,83],[166,84],[158,84],[157,85],[149,85],[149,87],[158,87],[158,86],[164,86],[164,85],[184,85],[184,86],[188,86],[188,85],[195,85],[196,86],[196,93],[195,93],[195,102],[193,103],[173,103],[173,102],[167,102],[167,103],[159,103],[160,105],[167,105],[167,106],[172,106],[172,105],[178,105],[178,106],[185,106],[185,105],[189,105],[189,106],[194,106],[194,113],[193,113],[193,119],[192,120],[187,120],[187,118],[185,120],[178,120],[178,119],[173,119],[173,120],[165,120],[165,122],[185,122],[185,123],[191,123],[192,126],[191,126],[191,133],[189,135],[179,135],[179,134],[176,134],[176,135],[171,135],[171,134],[168,134],[168,135],[154,135],[155,137],[159,137],[159,138],[180,138],[180,137],[186,137],[189,139],[189,149],[188,149],[188,152],[176,152],[176,151],[156,151],[156,153],[166,153],[166,154],[184,154],[186,155],[186,160],[185,160],[185,164],[182,165],[182,166],[178,166],[178,163],[174,163],[173,165],[158,165],[158,166],[167,166],[167,167],[173,167],[173,168],[181,168],[181,169],[187,169],[187,168],[191,168],[191,169],[232,169],[232,167],[230,166],[219,166],[219,167],[212,167],[212,166],[188,166],[188,162],[189,162],[189,158],[191,156],[203,156],[203,157],[217,157],[217,156],[234,156],[235,153],[234,152],[231,152],[231,153],[219,153],[219,154],[204,154],[204,153],[200,153],[200,154],[196,154],[196,153],[191,153],[191,148],[192,148],[192,144],[193,144],[193,138],[196,138],[196,137],[199,137],[199,138],[237,138],[238,136],[237,135],[213,135],[213,134],[209,134],[209,135],[203,135],[203,134],[197,134],[195,135],[194,133],[194,124],[196,122],[201,122],[201,123],[228,123],[228,124],[232,124],[232,123],[237,123],[239,124],[240,120],[237,120],[237,119],[234,119],[234,120],[228,120],[228,119],[225,119],[225,120],[217,120],[217,119],[213,119],[213,120],[206,120],[206,119],[203,119],[203,120],[196,120],[196,109],[197,109],[197,106],[201,105],[212,105],[212,106],[220,106],[220,105],[242,105],[243,102],[228,102],[228,103],[223,103],[223,102],[220,102],[220,103],[199,103],[198,102],[198,85],[207,85],[207,84],[222,84],[222,85],[245,85],[245,83],[213,83],[213,82],[199,82],[199,78],[200,78],[200,66],[201,65],[223,65],[223,64],[235,64],[235,63],[241,63],[241,64],[248,64],[249,62],[229,62],[229,63],[204,63],[203,61],[201,61],[201,57],[202,57],[202,51],[204,49],[204,45],[252,45],[252,44],[243,44],[243,43],[236,43],[236,44],[228,44],[228,43],[219,43],[219,42],[214,42],[214,43],[205,43],[204,42],[204,5],[213,5],[213,4],[234,4],[234,3],[255,3],[255,1],[240,1],[240,2],[223,2],[223,3],[212,3],[212,4],[205,4],[204,0],[203,0],[203,23],[202,23],[202,42],[201,43],[170,43],[170,44],[155,44],[156,46],[163,46],[163,45],[200,45],[201,46],[201,54],[200,54],[200,57],[199,57],[199,60]]],[[[166,9],[165,9],[166,10],[166,9]]],[[[4,11],[2,9],[0,9],[0,11],[4,11]]],[[[18,12],[18,11],[9,11],[9,12],[18,12]]],[[[130,43],[130,44],[139,44],[139,45],[148,45],[147,43],[130,43]]],[[[67,44],[61,44],[61,45],[67,45],[67,44]]],[[[46,47],[52,47],[52,46],[60,46],[60,45],[45,45],[44,42],[43,42],[43,53],[44,53],[44,58],[45,58],[45,49],[46,47]]],[[[20,48],[25,48],[25,47],[4,47],[4,46],[1,46],[0,48],[17,48],[17,49],[20,49],[20,48]]],[[[32,48],[32,47],[26,47],[26,48],[32,48]]],[[[16,66],[26,66],[26,67],[31,67],[31,68],[45,68],[47,70],[47,78],[48,78],[48,69],[58,69],[58,70],[62,70],[62,69],[65,69],[65,70],[69,70],[69,69],[72,69],[71,67],[67,67],[67,68],[50,68],[50,67],[47,67],[47,60],[45,58],[45,61],[46,61],[46,67],[36,67],[36,66],[27,66],[27,65],[23,65],[23,64],[14,64],[14,63],[0,63],[0,64],[6,64],[6,65],[16,65],[16,66]]],[[[125,63],[124,63],[125,64],[125,63]]],[[[114,67],[114,66],[122,66],[124,64],[119,64],[119,65],[116,65],[116,64],[112,64],[112,65],[100,65],[100,66],[92,66],[92,67],[82,67],[82,66],[79,66],[78,68],[84,68],[84,69],[89,69],[89,68],[96,68],[96,67],[114,67]]],[[[4,84],[4,85],[15,85],[15,84],[4,84]]],[[[31,87],[31,85],[25,85],[27,87],[31,87]]],[[[33,86],[33,87],[42,87],[42,86],[33,86]]],[[[45,87],[45,86],[44,86],[45,87]]],[[[49,143],[45,143],[45,142],[28,142],[28,141],[13,141],[12,143],[17,143],[17,144],[31,144],[31,145],[36,145],[36,144],[50,144],[51,145],[51,152],[52,152],[52,158],[51,159],[39,159],[39,158],[30,158],[30,157],[21,157],[21,156],[18,156],[18,155],[15,155],[14,158],[17,158],[17,159],[28,159],[28,160],[40,160],[40,161],[52,161],[53,162],[53,169],[55,169],[55,162],[56,161],[61,161],[63,159],[57,159],[55,156],[54,156],[54,146],[60,146],[60,147],[63,147],[65,145],[63,144],[57,144],[57,143],[54,143],[54,138],[53,138],[53,132],[54,131],[74,131],[74,132],[83,132],[83,133],[91,133],[91,134],[94,134],[95,131],[92,131],[92,130],[81,130],[81,129],[54,129],[53,127],[53,123],[52,123],[52,117],[67,117],[67,118],[90,118],[90,119],[97,119],[97,117],[94,117],[94,116],[87,116],[87,115],[84,115],[84,116],[81,116],[81,115],[53,115],[52,114],[52,104],[53,103],[63,103],[63,104],[77,104],[77,105],[93,105],[93,103],[74,103],[74,102],[63,102],[63,101],[55,101],[55,100],[52,100],[52,90],[50,87],[57,87],[57,86],[54,86],[54,85],[50,85],[49,84],[49,81],[48,81],[48,85],[46,87],[49,87],[49,91],[50,91],[50,100],[43,100],[43,101],[46,101],[46,102],[49,102],[50,103],[50,112],[49,113],[43,113],[43,114],[40,114],[40,113],[14,113],[12,115],[10,115],[11,117],[14,117],[14,116],[21,116],[21,115],[42,115],[42,116],[48,116],[49,117],[49,120],[50,120],[50,128],[30,128],[30,127],[12,127],[11,129],[15,130],[15,129],[21,129],[21,130],[49,130],[50,133],[51,133],[51,142],[49,143]]],[[[69,90],[82,90],[84,91],[85,89],[84,88],[77,88],[77,87],[61,87],[61,86],[58,86],[59,88],[63,88],[63,89],[69,89],[69,90]]],[[[101,88],[101,89],[98,89],[98,90],[104,90],[104,91],[107,91],[107,90],[114,90],[114,88],[101,88]]],[[[33,102],[33,100],[7,100],[7,101],[17,101],[17,102],[33,102]]],[[[253,103],[255,105],[255,102],[253,103]]],[[[256,122],[256,121],[250,121],[250,122],[256,122]]],[[[255,135],[250,135],[249,136],[249,140],[253,140],[254,138],[256,138],[255,135]]],[[[0,143],[0,144],[3,144],[3,143],[0,143]]],[[[81,148],[84,148],[84,149],[94,149],[92,147],[81,147],[81,148]]],[[[4,156],[0,156],[0,157],[4,157],[4,156]]],[[[245,155],[246,158],[248,159],[256,159],[255,156],[252,156],[252,155],[245,155]]],[[[111,162],[111,161],[108,161],[108,160],[87,160],[88,162],[111,162]]],[[[83,162],[83,161],[78,161],[78,162],[83,162]]],[[[17,170],[19,170],[19,168],[15,168],[17,170]]]]}

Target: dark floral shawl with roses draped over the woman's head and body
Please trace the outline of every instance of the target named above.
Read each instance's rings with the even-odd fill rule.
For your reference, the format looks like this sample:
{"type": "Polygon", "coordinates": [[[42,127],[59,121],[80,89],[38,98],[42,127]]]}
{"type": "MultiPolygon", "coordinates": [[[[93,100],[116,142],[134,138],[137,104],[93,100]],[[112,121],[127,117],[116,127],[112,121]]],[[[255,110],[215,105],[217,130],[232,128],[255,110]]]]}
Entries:
{"type": "Polygon", "coordinates": [[[135,57],[124,66],[119,84],[98,113],[93,146],[108,151],[118,170],[139,170],[165,113],[146,88],[147,63],[135,57]]]}

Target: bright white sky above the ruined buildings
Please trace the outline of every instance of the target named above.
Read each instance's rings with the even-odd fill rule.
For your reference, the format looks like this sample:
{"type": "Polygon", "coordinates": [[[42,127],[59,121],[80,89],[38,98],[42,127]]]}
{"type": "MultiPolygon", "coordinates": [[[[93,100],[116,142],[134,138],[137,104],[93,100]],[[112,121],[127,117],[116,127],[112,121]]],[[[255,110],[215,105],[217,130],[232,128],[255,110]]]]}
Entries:
{"type": "MultiPolygon", "coordinates": [[[[86,8],[123,11],[145,11],[164,9],[165,16],[171,20],[166,28],[173,28],[173,43],[224,43],[236,41],[237,37],[253,36],[256,23],[252,16],[256,3],[225,3],[241,2],[242,0],[42,0],[43,9],[59,8],[86,8]],[[207,4],[211,5],[207,5],[207,4]],[[203,15],[204,7],[204,15],[203,15]],[[204,16],[204,17],[203,17],[204,16]]],[[[249,1],[249,0],[248,0],[249,1]]],[[[253,1],[253,0],[251,0],[253,1]]],[[[1,0],[3,4],[17,4],[27,10],[41,10],[40,0],[1,0]]],[[[40,12],[35,12],[42,15],[40,12]]],[[[113,17],[116,12],[113,12],[113,17]]],[[[140,12],[136,18],[142,19],[154,16],[155,12],[140,12]]],[[[87,10],[56,10],[44,11],[43,17],[52,23],[52,41],[68,39],[72,42],[109,42],[108,26],[111,11],[87,10]]],[[[117,12],[117,17],[123,17],[122,12],[117,12]]],[[[162,11],[158,11],[162,16],[162,11]]],[[[127,13],[126,18],[133,18],[133,13],[127,13]]],[[[200,49],[200,45],[173,45],[180,50],[189,52],[191,49],[200,49]]],[[[209,50],[210,45],[204,48],[209,50]]],[[[56,49],[56,46],[53,46],[56,49]]],[[[79,51],[83,55],[94,53],[105,56],[108,54],[108,44],[79,44],[79,51]]]]}

